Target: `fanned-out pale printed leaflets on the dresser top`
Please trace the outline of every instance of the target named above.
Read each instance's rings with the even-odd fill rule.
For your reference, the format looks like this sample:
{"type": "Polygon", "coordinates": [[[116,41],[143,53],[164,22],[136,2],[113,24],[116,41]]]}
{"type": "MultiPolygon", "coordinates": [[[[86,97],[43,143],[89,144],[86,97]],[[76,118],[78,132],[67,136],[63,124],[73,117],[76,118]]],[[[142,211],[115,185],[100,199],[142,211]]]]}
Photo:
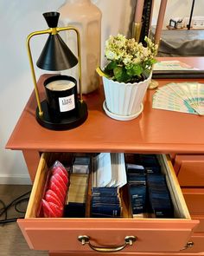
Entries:
{"type": "Polygon", "coordinates": [[[171,82],[156,90],[152,108],[204,115],[204,84],[171,82]]]}

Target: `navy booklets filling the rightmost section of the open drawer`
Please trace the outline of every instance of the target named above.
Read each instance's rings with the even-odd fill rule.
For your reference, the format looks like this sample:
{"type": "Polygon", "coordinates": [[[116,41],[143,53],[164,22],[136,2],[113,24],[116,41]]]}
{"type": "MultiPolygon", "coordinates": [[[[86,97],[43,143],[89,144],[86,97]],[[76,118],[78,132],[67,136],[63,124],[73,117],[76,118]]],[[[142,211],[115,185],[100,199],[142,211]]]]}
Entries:
{"type": "Polygon", "coordinates": [[[174,218],[165,175],[156,154],[125,155],[132,217],[174,218]]]}

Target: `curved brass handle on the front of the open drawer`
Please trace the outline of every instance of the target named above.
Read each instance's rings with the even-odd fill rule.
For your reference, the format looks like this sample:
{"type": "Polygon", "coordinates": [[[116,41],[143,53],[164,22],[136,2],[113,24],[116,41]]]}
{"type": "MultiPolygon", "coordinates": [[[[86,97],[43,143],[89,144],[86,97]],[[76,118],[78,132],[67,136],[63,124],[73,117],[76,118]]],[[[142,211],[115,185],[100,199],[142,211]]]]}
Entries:
{"type": "Polygon", "coordinates": [[[122,246],[110,246],[110,247],[98,247],[98,246],[92,246],[90,242],[90,238],[87,235],[80,235],[78,237],[78,240],[81,242],[82,246],[85,246],[88,244],[88,246],[93,250],[97,251],[99,253],[114,253],[123,250],[126,246],[132,246],[133,242],[137,240],[137,238],[133,235],[126,236],[124,238],[124,245],[122,246]]]}

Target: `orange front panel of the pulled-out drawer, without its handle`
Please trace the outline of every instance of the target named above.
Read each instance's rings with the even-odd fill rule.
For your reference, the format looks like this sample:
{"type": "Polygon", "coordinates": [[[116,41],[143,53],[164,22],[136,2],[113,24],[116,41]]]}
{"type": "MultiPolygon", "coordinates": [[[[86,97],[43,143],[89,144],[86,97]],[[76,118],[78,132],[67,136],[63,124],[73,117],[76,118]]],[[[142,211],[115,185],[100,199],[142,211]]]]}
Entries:
{"type": "MultiPolygon", "coordinates": [[[[176,252],[185,246],[194,221],[184,220],[19,220],[30,248],[90,251],[78,237],[87,235],[94,246],[121,246],[124,237],[137,241],[125,252],[176,252]]],[[[196,222],[195,222],[196,223],[196,222]]]]}

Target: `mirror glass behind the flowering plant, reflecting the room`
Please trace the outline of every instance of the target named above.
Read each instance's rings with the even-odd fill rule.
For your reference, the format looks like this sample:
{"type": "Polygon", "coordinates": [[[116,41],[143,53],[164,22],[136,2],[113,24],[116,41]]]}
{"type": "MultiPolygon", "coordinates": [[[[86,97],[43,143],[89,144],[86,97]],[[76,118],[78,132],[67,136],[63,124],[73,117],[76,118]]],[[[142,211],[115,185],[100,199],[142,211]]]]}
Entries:
{"type": "MultiPolygon", "coordinates": [[[[152,38],[156,34],[157,16],[162,1],[144,0],[144,3],[153,3],[149,35],[152,38]]],[[[153,75],[155,78],[204,77],[203,62],[193,63],[192,58],[188,61],[188,57],[197,58],[204,55],[203,8],[204,2],[201,0],[167,1],[157,56],[168,57],[168,60],[157,63],[153,75]],[[179,61],[174,62],[175,57],[179,58],[179,61]]]]}

